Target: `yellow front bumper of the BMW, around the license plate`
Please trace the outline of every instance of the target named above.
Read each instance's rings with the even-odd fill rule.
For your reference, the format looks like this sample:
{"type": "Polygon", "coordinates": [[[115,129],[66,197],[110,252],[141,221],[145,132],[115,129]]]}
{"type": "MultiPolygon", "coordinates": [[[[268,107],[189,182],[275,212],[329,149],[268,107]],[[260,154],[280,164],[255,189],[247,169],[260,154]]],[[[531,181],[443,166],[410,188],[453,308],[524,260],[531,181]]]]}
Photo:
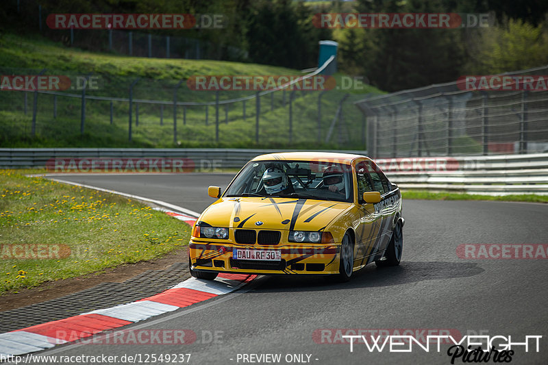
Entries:
{"type": "Polygon", "coordinates": [[[339,272],[340,245],[338,244],[249,246],[191,240],[188,252],[192,270],[197,271],[257,275],[330,275],[339,272]],[[280,250],[282,260],[237,260],[233,249],[280,250]]]}

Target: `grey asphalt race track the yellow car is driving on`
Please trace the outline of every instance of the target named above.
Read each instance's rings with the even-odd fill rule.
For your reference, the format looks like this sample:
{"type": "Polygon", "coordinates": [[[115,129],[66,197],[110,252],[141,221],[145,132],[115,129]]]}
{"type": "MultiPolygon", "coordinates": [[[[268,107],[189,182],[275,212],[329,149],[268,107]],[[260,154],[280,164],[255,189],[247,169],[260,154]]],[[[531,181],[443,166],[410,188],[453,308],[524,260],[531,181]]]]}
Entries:
{"type": "MultiPolygon", "coordinates": [[[[232,179],[230,174],[198,173],[56,177],[197,212],[213,201],[209,185],[225,188],[232,179]]],[[[196,333],[191,344],[80,343],[39,355],[117,355],[118,364],[129,363],[127,357],[120,360],[123,355],[140,354],[136,363],[148,358],[162,364],[166,361],[152,362],[151,355],[180,353],[191,354],[190,364],[451,364],[449,344],[442,344],[440,352],[434,344],[429,352],[414,344],[412,352],[395,353],[388,345],[370,352],[356,343],[351,352],[348,342],[332,336],[336,331],[321,331],[343,329],[340,335],[347,329],[388,329],[418,337],[429,329],[432,335],[447,334],[442,329],[462,336],[511,336],[514,343],[543,336],[538,353],[534,340],[528,352],[523,345],[512,347],[511,363],[547,364],[548,260],[465,260],[456,249],[459,244],[548,244],[548,205],[404,200],[403,216],[399,267],[366,266],[347,284],[325,277],[259,277],[238,292],[124,327],[190,329],[196,333]],[[329,343],[333,340],[339,343],[329,343]],[[281,357],[268,362],[270,357],[258,360],[251,354],[281,357]]],[[[366,334],[371,333],[377,334],[366,334]]],[[[464,364],[462,357],[455,364],[464,364]]]]}

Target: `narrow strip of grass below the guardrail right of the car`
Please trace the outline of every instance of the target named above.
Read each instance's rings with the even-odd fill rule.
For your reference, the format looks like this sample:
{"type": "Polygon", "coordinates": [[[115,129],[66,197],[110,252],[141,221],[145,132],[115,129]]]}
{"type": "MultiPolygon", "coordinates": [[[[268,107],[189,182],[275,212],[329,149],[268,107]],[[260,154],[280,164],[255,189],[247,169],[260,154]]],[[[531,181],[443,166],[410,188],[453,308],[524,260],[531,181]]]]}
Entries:
{"type": "Polygon", "coordinates": [[[526,201],[529,203],[548,203],[547,195],[513,194],[493,197],[491,195],[465,194],[460,192],[429,192],[425,190],[402,190],[403,199],[427,200],[490,200],[490,201],[526,201]]]}

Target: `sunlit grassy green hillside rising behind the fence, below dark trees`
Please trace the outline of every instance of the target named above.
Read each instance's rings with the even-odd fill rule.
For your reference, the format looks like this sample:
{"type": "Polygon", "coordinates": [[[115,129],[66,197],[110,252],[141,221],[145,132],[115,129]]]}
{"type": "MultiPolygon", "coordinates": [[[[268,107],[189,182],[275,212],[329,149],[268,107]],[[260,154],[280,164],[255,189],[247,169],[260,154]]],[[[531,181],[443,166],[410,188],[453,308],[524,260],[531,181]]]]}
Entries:
{"type": "MultiPolygon", "coordinates": [[[[207,103],[215,92],[190,90],[186,80],[192,75],[303,75],[301,71],[260,64],[210,60],[132,58],[111,53],[91,53],[64,47],[45,38],[23,38],[4,34],[0,38],[1,75],[45,75],[76,77],[91,75],[97,88],[86,90],[92,97],[129,97],[134,86],[136,100],[207,103]]],[[[344,75],[335,75],[340,81],[344,75]]],[[[331,90],[321,95],[321,139],[318,138],[318,100],[320,92],[293,93],[290,126],[290,91],[277,91],[260,98],[260,140],[256,136],[256,100],[221,105],[219,142],[215,140],[215,108],[204,105],[177,107],[177,143],[173,142],[173,105],[135,103],[132,142],[128,138],[127,101],[86,100],[84,134],[80,133],[82,91],[66,90],[63,95],[38,93],[36,136],[31,136],[34,92],[0,91],[0,147],[271,147],[362,149],[362,115],[353,105],[368,92],[379,90],[364,86],[360,90],[331,90]],[[338,102],[349,92],[343,121],[334,123],[338,102]],[[27,113],[25,114],[25,94],[27,113]],[[55,100],[56,99],[56,100],[55,100]],[[54,105],[56,103],[56,116],[54,105]],[[245,108],[245,116],[244,116],[245,108]],[[138,110],[137,110],[138,109],[138,110]],[[138,125],[136,113],[138,112],[138,125]],[[184,123],[186,115],[186,123],[184,123]],[[226,118],[227,117],[227,118],[226,118]],[[291,129],[291,133],[290,133],[291,129]],[[332,129],[329,140],[326,137],[332,129]]],[[[219,92],[221,101],[253,95],[253,91],[219,92]]]]}

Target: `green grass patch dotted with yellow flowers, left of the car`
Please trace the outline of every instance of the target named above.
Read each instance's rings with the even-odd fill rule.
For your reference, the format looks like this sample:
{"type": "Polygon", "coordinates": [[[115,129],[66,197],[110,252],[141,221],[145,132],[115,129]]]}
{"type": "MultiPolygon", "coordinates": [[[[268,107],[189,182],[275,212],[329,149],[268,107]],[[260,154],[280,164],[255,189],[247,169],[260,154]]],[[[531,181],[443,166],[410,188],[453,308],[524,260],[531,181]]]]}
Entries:
{"type": "Polygon", "coordinates": [[[115,194],[10,170],[0,186],[0,294],[150,260],[190,237],[185,223],[115,194]]]}

